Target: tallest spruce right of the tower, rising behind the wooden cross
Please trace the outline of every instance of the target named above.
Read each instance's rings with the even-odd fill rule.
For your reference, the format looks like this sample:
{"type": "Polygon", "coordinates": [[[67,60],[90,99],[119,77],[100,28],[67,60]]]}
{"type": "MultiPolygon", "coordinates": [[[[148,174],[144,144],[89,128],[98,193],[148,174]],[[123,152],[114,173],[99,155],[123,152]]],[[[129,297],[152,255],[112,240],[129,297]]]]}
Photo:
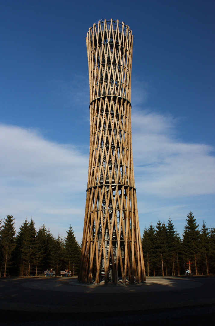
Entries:
{"type": "Polygon", "coordinates": [[[198,230],[199,224],[197,225],[196,219],[192,212],[187,215],[186,218],[187,224],[184,227],[183,232],[183,250],[185,258],[189,259],[195,265],[195,274],[197,275],[197,253],[199,250],[199,235],[200,231],[198,230]]]}

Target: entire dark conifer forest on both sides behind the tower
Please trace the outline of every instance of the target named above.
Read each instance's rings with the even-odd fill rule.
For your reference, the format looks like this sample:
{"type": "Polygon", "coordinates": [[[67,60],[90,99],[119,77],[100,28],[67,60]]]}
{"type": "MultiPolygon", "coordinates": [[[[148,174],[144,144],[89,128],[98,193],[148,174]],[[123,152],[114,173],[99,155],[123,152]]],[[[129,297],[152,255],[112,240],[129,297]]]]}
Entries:
{"type": "MultiPolygon", "coordinates": [[[[145,227],[142,249],[146,276],[184,275],[189,261],[193,275],[215,274],[215,228],[204,221],[199,228],[192,212],[182,239],[170,217],[167,225],[158,220],[145,227]]],[[[80,252],[71,225],[65,238],[55,238],[44,224],[36,230],[33,219],[26,218],[17,233],[13,216],[0,220],[0,277],[39,276],[51,268],[56,275],[65,268],[77,275],[80,252]]]]}

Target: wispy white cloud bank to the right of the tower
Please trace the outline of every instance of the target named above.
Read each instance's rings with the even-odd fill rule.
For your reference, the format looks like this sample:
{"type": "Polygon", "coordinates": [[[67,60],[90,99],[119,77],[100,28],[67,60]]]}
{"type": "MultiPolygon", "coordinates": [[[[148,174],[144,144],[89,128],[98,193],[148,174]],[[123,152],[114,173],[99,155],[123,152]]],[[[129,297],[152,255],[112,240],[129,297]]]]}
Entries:
{"type": "Polygon", "coordinates": [[[176,139],[176,121],[149,111],[132,112],[133,155],[139,191],[161,197],[215,193],[214,149],[176,139]]]}

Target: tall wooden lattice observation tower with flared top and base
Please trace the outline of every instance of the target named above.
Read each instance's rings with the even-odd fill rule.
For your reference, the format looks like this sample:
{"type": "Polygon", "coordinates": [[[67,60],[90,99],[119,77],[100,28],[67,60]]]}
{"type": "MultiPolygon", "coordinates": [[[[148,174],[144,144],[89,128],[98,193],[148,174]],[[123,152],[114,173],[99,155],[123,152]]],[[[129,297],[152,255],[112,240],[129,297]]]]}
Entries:
{"type": "Polygon", "coordinates": [[[90,150],[79,281],[145,281],[131,144],[133,35],[104,21],[86,37],[90,150]]]}

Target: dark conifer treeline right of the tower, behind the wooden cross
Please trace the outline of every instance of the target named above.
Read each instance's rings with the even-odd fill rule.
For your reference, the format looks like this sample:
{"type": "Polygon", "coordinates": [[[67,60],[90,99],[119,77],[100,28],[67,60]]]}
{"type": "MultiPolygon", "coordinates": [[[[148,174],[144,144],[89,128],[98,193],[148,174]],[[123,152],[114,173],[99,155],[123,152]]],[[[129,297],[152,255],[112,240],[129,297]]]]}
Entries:
{"type": "Polygon", "coordinates": [[[145,228],[142,249],[147,276],[184,275],[190,264],[194,275],[215,274],[215,228],[201,230],[192,212],[187,215],[183,237],[180,238],[172,220],[158,220],[145,228]]]}

